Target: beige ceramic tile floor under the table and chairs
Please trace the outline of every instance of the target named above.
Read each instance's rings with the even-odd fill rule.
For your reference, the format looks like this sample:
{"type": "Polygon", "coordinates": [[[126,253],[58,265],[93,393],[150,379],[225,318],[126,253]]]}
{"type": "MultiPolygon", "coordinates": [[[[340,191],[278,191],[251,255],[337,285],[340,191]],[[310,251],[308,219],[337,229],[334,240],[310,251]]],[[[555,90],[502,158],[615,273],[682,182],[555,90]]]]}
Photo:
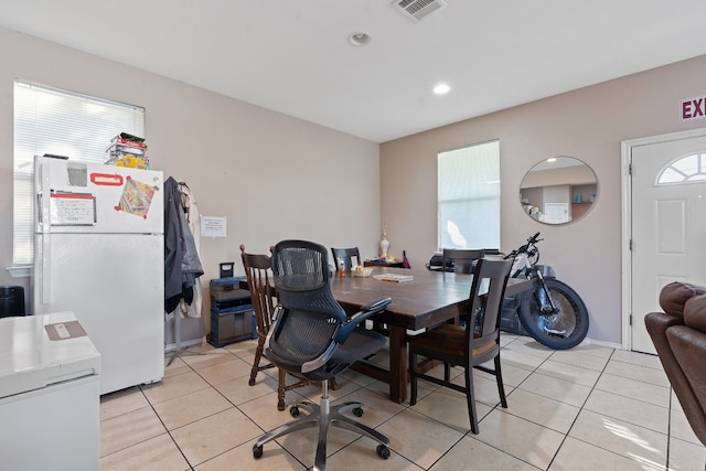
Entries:
{"type": "MultiPolygon", "coordinates": [[[[409,407],[389,402],[386,385],[344,372],[332,400],[362,400],[361,420],[387,435],[393,452],[383,460],[372,440],[333,429],[329,469],[704,470],[706,448],[656,356],[595,344],[552,351],[515,335],[503,335],[503,345],[509,408],[499,406],[492,376],[475,372],[479,435],[456,392],[420,382],[409,407]]],[[[274,370],[247,385],[254,349],[255,341],[204,343],[175,358],[162,382],[103,396],[101,470],[311,469],[314,429],[253,458],[255,438],[290,420],[276,407],[274,370]]],[[[318,402],[319,389],[289,392],[287,403],[302,395],[318,402]]]]}

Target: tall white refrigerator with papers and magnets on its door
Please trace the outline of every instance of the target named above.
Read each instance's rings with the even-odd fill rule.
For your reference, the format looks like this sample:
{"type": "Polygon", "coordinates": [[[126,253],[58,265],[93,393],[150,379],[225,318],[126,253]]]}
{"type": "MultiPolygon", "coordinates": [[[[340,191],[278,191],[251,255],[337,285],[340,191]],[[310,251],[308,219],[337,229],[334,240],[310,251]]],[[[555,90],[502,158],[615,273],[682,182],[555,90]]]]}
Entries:
{"type": "Polygon", "coordinates": [[[100,394],[164,375],[162,172],[38,157],[32,312],[73,311],[100,394]]]}

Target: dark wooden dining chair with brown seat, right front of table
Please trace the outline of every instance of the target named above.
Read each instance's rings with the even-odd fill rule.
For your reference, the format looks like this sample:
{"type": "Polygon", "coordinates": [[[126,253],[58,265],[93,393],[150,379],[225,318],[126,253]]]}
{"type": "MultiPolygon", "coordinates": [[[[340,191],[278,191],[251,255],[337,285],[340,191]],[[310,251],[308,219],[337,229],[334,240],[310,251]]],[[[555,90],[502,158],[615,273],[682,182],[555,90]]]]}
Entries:
{"type": "Polygon", "coordinates": [[[495,376],[500,404],[507,408],[500,365],[500,318],[511,268],[512,260],[478,260],[469,300],[464,307],[469,319],[466,325],[445,323],[408,339],[410,406],[417,404],[419,378],[464,393],[471,431],[478,433],[473,393],[473,368],[477,368],[495,376]],[[425,360],[418,364],[419,355],[425,360]],[[421,368],[435,360],[443,362],[443,378],[421,373],[421,368]],[[494,367],[483,365],[491,360],[494,367]],[[451,382],[450,365],[463,368],[463,385],[451,382]]]}

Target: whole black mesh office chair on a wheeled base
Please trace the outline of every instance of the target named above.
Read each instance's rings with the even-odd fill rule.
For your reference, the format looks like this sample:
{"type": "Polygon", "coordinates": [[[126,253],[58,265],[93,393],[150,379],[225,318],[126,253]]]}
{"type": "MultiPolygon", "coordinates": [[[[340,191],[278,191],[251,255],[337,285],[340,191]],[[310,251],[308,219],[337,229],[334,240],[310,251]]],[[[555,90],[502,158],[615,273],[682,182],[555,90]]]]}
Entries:
{"type": "Polygon", "coordinates": [[[383,347],[383,335],[359,325],[383,311],[391,299],[366,306],[349,319],[331,293],[331,274],[324,247],[306,240],[282,240],[275,246],[271,261],[280,304],[275,310],[276,320],[267,335],[265,356],[293,375],[320,381],[321,404],[302,402],[292,405],[290,414],[296,420],[257,439],[253,456],[260,458],[263,446],[278,437],[307,427],[319,427],[314,468],[323,470],[327,436],[329,427],[334,426],[372,438],[379,443],[377,454],[389,458],[389,440],[385,436],[343,415],[352,411],[361,417],[361,403],[330,406],[329,379],[353,362],[383,347]],[[299,417],[300,408],[309,414],[299,417]]]}

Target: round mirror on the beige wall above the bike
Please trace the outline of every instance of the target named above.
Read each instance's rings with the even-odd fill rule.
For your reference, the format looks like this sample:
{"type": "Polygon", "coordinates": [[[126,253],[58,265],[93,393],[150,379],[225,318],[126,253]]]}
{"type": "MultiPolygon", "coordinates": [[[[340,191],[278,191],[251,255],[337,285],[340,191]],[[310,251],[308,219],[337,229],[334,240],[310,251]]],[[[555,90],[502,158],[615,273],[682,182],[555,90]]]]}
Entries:
{"type": "Polygon", "coordinates": [[[579,220],[596,202],[598,180],[586,163],[555,157],[534,165],[520,185],[520,202],[527,216],[545,224],[579,220]]]}

